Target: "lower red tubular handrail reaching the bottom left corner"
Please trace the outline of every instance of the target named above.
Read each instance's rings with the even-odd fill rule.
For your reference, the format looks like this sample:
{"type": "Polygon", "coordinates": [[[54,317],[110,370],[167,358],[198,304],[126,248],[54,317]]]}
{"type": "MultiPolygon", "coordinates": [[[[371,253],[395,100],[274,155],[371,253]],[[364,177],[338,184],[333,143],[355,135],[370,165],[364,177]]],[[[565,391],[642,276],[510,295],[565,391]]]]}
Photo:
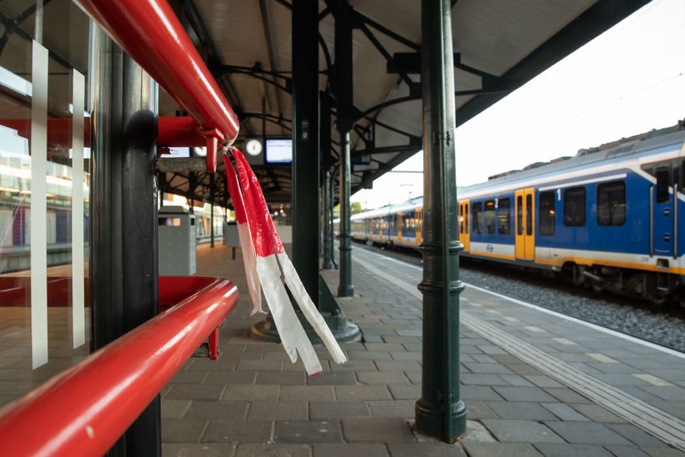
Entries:
{"type": "Polygon", "coordinates": [[[201,289],[3,407],[1,454],[107,452],[238,302],[229,280],[195,277],[184,284],[201,289]]]}

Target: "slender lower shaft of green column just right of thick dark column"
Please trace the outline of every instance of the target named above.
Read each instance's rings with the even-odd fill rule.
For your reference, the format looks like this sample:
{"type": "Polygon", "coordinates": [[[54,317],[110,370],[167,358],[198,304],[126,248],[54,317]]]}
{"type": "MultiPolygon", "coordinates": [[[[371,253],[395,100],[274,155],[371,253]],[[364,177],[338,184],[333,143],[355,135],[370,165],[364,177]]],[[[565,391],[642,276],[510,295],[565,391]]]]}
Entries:
{"type": "Polygon", "coordinates": [[[349,131],[343,134],[340,145],[340,284],[339,297],[352,297],[352,234],[349,223],[349,131]]]}

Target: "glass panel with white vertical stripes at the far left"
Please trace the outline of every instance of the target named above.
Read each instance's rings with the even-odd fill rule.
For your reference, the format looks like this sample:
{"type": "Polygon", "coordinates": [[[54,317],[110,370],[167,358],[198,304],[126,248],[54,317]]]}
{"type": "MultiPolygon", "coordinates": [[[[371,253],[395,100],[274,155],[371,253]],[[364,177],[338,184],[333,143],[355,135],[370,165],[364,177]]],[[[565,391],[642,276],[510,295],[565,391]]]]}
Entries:
{"type": "Polygon", "coordinates": [[[89,20],[70,0],[35,7],[0,2],[14,23],[0,41],[0,382],[16,383],[0,404],[78,362],[90,341],[89,20]],[[42,345],[47,364],[35,352],[42,345]]]}

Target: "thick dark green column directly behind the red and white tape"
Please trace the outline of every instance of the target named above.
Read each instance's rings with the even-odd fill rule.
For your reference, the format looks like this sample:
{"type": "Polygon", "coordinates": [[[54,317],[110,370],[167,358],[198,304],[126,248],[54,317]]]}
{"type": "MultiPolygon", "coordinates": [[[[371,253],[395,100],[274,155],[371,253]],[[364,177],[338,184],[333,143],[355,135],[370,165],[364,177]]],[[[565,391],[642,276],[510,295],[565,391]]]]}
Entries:
{"type": "Polygon", "coordinates": [[[292,1],[292,264],[319,296],[319,2],[292,1]]]}

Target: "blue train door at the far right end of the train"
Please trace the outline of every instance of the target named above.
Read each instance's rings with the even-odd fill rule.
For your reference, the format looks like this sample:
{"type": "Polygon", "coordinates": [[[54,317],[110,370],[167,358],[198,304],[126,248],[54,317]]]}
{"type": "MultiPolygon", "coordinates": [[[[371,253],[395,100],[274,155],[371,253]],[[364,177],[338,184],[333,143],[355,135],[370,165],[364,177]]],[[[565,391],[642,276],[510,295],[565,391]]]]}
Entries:
{"type": "Polygon", "coordinates": [[[673,256],[673,241],[677,217],[676,208],[673,206],[673,196],[670,193],[671,166],[670,164],[658,165],[654,169],[656,186],[649,188],[650,212],[651,212],[651,249],[653,256],[673,256]]]}

